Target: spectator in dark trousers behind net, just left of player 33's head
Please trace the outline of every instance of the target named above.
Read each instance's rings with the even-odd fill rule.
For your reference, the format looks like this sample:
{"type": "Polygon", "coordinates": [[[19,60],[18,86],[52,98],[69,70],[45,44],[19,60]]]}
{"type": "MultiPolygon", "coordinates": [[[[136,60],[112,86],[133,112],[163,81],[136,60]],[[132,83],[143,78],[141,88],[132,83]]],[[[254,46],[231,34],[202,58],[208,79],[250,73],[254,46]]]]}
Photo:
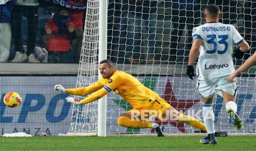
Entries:
{"type": "Polygon", "coordinates": [[[177,62],[188,62],[189,50],[192,46],[192,30],[194,27],[200,24],[200,3],[201,0],[173,0],[171,3],[172,8],[172,32],[171,32],[171,44],[170,44],[170,58],[169,61],[172,63],[177,62]],[[186,37],[184,51],[178,50],[181,45],[181,37],[183,32],[186,31],[185,27],[188,28],[188,38],[186,37]],[[182,56],[177,59],[177,56],[182,56]],[[187,56],[184,61],[183,56],[187,56]],[[176,60],[177,59],[177,60],[176,60]]]}

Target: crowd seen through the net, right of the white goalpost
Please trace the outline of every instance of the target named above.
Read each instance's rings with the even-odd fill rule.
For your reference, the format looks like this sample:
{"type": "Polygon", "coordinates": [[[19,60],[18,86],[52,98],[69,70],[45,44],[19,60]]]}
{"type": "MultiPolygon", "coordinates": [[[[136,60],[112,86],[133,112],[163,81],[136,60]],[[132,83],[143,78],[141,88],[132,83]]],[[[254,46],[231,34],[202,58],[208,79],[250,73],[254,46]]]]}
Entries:
{"type": "Polygon", "coordinates": [[[108,55],[113,62],[186,64],[192,30],[204,23],[203,12],[208,4],[218,5],[223,13],[219,22],[238,27],[251,44],[250,54],[255,51],[256,3],[252,0],[109,0],[108,3],[108,55]]]}

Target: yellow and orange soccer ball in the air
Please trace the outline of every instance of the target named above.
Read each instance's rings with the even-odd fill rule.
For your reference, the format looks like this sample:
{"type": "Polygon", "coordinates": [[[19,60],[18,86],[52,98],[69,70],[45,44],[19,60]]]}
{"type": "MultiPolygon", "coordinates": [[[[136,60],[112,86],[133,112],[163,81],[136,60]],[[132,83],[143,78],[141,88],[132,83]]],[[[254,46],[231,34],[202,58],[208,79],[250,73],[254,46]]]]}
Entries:
{"type": "Polygon", "coordinates": [[[22,102],[20,95],[17,92],[8,92],[3,98],[4,104],[8,107],[18,107],[22,102]]]}

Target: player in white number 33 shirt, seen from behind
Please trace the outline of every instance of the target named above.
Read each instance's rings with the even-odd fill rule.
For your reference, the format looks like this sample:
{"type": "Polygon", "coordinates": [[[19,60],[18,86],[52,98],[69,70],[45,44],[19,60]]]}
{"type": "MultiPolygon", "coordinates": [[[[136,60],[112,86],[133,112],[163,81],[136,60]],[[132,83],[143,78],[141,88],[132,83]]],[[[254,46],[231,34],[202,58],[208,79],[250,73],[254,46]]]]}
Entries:
{"type": "Polygon", "coordinates": [[[208,5],[205,8],[206,24],[193,29],[193,44],[187,66],[187,75],[193,79],[193,64],[200,51],[197,63],[197,89],[203,101],[203,119],[208,132],[208,136],[200,140],[204,144],[217,144],[212,107],[215,92],[224,98],[225,108],[235,127],[242,128],[242,121],[236,113],[237,79],[228,83],[227,77],[235,71],[232,61],[233,43],[239,45],[236,55],[240,57],[243,55],[242,52],[249,50],[249,45],[234,26],[218,22],[220,16],[220,8],[216,5],[208,5]]]}

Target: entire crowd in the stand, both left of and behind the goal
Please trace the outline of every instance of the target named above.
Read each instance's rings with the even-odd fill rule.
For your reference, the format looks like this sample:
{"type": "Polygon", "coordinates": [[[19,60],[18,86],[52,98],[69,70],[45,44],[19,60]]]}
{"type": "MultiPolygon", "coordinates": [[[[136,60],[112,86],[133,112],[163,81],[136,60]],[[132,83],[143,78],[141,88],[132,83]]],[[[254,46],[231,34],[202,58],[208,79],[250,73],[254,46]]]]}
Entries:
{"type": "MultiPolygon", "coordinates": [[[[87,0],[0,0],[0,62],[78,63],[86,4],[87,0]]],[[[241,27],[237,24],[243,19],[238,31],[254,53],[252,0],[108,0],[108,57],[117,63],[187,62],[192,30],[203,23],[207,4],[220,6],[224,24],[241,27]]]]}

